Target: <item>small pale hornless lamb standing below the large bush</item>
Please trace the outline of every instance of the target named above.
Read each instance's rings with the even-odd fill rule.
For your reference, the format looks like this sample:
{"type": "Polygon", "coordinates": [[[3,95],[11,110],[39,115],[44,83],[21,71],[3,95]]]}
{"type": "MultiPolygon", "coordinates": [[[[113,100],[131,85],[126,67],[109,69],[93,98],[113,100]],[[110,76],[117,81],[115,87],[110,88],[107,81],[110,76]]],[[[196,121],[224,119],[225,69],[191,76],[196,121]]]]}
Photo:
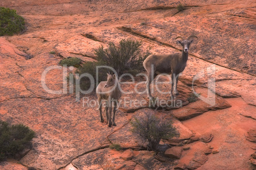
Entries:
{"type": "Polygon", "coordinates": [[[99,114],[101,116],[101,122],[104,122],[103,115],[101,112],[102,100],[107,100],[107,105],[105,108],[106,119],[107,124],[110,127],[111,125],[117,126],[117,124],[115,124],[115,112],[117,111],[117,103],[120,97],[122,96],[122,92],[120,91],[120,84],[118,82],[117,75],[111,75],[110,72],[108,72],[107,75],[107,81],[102,81],[97,86],[96,94],[97,100],[99,101],[99,114]],[[111,117],[112,101],[114,103],[113,117],[111,117]]]}

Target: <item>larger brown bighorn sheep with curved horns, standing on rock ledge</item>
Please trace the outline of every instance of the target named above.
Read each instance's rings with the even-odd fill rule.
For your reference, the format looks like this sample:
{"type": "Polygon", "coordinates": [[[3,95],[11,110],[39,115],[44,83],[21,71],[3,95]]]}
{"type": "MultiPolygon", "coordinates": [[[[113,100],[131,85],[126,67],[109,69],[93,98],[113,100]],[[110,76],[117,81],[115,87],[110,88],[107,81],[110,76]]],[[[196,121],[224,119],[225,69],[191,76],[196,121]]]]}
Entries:
{"type": "MultiPolygon", "coordinates": [[[[150,83],[155,79],[157,74],[171,74],[171,97],[173,97],[173,86],[174,81],[176,79],[175,86],[175,96],[178,95],[177,84],[179,74],[183,72],[187,65],[188,60],[188,49],[190,43],[193,42],[192,37],[189,36],[187,39],[183,39],[183,37],[178,36],[176,39],[180,38],[182,41],[177,41],[178,44],[181,44],[183,47],[182,53],[174,53],[171,55],[150,55],[143,62],[143,66],[148,72],[148,79],[146,81],[146,93],[148,97],[151,99],[152,95],[150,93],[150,83]],[[191,39],[191,40],[190,40],[191,39]]],[[[196,37],[197,38],[197,37],[196,37]]]]}

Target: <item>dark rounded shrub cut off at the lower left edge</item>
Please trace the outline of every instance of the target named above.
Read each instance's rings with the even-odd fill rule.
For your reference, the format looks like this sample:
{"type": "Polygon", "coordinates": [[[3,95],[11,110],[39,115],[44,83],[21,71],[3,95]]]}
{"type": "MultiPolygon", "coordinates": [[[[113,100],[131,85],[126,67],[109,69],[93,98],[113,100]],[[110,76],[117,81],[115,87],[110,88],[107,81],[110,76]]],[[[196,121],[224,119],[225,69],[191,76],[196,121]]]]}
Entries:
{"type": "Polygon", "coordinates": [[[22,151],[34,138],[34,131],[23,124],[10,126],[0,121],[0,160],[13,157],[22,151]]]}

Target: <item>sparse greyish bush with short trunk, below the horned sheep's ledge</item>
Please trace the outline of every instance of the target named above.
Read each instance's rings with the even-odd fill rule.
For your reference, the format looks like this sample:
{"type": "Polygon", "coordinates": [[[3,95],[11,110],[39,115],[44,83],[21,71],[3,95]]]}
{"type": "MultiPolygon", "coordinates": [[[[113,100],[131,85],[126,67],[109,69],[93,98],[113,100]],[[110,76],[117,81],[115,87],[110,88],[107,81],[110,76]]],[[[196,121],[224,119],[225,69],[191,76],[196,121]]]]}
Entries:
{"type": "Polygon", "coordinates": [[[143,140],[148,141],[148,149],[154,151],[159,150],[159,142],[161,139],[170,139],[178,135],[173,127],[172,122],[156,117],[152,113],[145,112],[144,115],[138,115],[131,121],[133,133],[139,134],[143,140]]]}

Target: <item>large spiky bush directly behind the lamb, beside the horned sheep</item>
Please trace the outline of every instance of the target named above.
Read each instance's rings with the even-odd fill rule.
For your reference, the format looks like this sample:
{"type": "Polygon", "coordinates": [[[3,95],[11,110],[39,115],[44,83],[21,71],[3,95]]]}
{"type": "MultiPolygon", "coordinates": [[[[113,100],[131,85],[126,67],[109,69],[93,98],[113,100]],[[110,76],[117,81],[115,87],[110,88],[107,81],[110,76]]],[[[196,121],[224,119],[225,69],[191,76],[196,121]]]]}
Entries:
{"type": "Polygon", "coordinates": [[[118,46],[110,42],[107,49],[103,49],[101,46],[95,50],[95,54],[98,61],[113,67],[118,75],[130,70],[138,70],[139,72],[143,69],[143,61],[150,55],[148,50],[143,53],[141,44],[141,41],[122,39],[118,46]]]}

